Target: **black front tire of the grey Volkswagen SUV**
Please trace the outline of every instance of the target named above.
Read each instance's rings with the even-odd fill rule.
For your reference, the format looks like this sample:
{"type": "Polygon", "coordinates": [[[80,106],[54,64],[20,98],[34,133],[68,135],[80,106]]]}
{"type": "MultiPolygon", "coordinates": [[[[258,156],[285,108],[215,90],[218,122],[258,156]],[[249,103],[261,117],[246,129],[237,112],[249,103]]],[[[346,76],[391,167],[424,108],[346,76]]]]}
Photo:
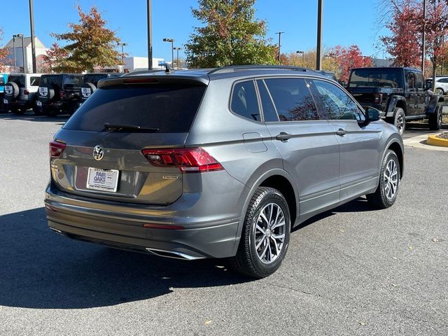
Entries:
{"type": "Polygon", "coordinates": [[[398,191],[400,191],[400,161],[398,161],[397,155],[394,151],[388,150],[386,151],[386,155],[384,155],[383,162],[381,162],[381,171],[379,172],[379,182],[377,190],[375,190],[375,192],[372,194],[365,195],[365,197],[367,198],[367,201],[374,207],[378,209],[386,209],[388,207],[392,207],[392,205],[395,203],[398,191]],[[385,174],[388,174],[387,169],[391,160],[395,163],[397,175],[395,193],[392,197],[389,197],[387,189],[388,183],[386,183],[385,174]]]}

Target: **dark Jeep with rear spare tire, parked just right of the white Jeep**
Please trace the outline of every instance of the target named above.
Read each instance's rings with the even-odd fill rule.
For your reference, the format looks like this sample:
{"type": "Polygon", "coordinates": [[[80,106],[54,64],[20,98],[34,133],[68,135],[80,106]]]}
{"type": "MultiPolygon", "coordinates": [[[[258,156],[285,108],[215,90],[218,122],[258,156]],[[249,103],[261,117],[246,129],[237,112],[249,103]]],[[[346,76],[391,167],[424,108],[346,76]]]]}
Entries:
{"type": "Polygon", "coordinates": [[[47,116],[59,113],[73,114],[79,106],[79,91],[83,75],[79,73],[52,73],[41,76],[36,109],[47,116]]]}

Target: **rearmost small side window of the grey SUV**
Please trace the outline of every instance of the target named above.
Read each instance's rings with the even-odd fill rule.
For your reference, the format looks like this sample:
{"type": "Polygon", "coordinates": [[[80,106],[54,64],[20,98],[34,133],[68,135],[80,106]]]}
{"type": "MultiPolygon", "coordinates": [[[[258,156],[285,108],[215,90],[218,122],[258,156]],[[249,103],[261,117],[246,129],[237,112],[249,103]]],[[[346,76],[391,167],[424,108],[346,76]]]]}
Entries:
{"type": "Polygon", "coordinates": [[[235,84],[230,109],[241,117],[261,121],[257,93],[252,80],[235,84]]]}

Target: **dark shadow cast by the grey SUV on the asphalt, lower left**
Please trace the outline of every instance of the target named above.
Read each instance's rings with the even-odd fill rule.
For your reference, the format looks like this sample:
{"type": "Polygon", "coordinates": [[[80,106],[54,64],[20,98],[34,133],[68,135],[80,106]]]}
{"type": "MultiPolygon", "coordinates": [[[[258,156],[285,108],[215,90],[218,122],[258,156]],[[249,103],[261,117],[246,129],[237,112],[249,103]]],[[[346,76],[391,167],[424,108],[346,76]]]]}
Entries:
{"type": "Polygon", "coordinates": [[[0,306],[82,309],[146,300],[172,288],[251,281],[224,260],[183,261],[73,241],[44,208],[0,216],[0,306]]]}

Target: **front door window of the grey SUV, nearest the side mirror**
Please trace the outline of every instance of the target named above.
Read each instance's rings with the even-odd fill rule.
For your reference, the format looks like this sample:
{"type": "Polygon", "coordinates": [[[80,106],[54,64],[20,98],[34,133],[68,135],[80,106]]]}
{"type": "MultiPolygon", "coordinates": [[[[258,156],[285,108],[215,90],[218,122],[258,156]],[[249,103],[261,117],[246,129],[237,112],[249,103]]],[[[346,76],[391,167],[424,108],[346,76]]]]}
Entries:
{"type": "Polygon", "coordinates": [[[364,120],[353,99],[339,87],[323,80],[314,80],[314,84],[328,119],[364,120]]]}

